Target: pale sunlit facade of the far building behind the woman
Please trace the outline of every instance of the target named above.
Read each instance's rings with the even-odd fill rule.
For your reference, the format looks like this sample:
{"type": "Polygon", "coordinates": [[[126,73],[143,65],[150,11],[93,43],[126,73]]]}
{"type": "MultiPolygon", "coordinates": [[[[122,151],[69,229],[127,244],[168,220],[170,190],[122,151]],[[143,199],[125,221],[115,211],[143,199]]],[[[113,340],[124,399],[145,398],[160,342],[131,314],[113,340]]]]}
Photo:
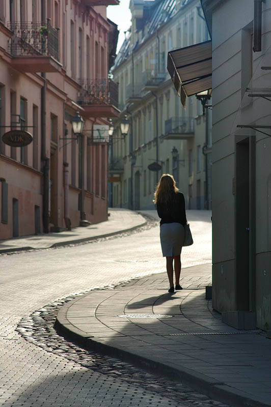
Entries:
{"type": "Polygon", "coordinates": [[[155,185],[166,172],[173,174],[187,208],[210,208],[210,171],[206,176],[205,169],[211,154],[208,160],[203,154],[204,146],[211,151],[210,111],[203,115],[196,97],[188,98],[183,109],[167,72],[169,50],[208,37],[200,2],[131,0],[130,10],[130,31],[113,68],[121,120],[128,120],[129,132],[124,136],[121,120],[114,120],[110,203],[152,209],[155,185]]]}

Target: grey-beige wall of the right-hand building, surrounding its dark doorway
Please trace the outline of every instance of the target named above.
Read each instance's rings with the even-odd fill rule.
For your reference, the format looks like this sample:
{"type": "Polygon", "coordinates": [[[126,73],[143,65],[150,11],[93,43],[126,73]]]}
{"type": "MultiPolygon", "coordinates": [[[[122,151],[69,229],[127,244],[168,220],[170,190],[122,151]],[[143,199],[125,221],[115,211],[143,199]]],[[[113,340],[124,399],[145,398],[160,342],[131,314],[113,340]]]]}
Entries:
{"type": "MultiPolygon", "coordinates": [[[[220,312],[236,309],[235,281],[239,271],[234,263],[234,239],[235,222],[240,216],[234,209],[238,192],[235,190],[236,125],[270,125],[271,120],[270,103],[262,98],[249,98],[249,92],[245,92],[247,86],[270,87],[271,74],[261,70],[261,66],[268,65],[270,55],[271,2],[267,0],[262,7],[262,51],[252,53],[250,81],[246,79],[250,61],[245,36],[246,30],[253,26],[254,2],[221,2],[212,15],[213,307],[220,312]]],[[[266,323],[271,326],[271,142],[268,135],[251,129],[242,129],[238,134],[256,136],[256,266],[251,271],[256,286],[253,284],[250,289],[256,290],[257,326],[265,329],[266,323]]]]}

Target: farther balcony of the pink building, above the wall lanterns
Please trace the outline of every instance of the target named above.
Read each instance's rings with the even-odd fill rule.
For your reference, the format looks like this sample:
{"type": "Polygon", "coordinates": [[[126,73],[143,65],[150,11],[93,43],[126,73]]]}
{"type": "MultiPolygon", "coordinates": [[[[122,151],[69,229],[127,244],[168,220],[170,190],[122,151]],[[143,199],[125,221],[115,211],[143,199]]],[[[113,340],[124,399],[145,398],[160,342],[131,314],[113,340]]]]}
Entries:
{"type": "Polygon", "coordinates": [[[112,79],[78,79],[81,85],[77,103],[92,118],[119,118],[118,84],[112,79]]]}

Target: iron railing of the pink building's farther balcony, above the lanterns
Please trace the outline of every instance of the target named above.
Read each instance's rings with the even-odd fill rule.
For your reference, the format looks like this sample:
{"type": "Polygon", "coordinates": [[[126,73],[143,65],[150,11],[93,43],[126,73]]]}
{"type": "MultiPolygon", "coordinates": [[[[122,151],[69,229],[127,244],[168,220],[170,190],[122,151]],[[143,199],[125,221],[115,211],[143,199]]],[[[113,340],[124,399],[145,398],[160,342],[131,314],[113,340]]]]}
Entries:
{"type": "Polygon", "coordinates": [[[77,79],[82,86],[77,102],[81,105],[106,104],[118,107],[119,85],[112,79],[77,79]]]}

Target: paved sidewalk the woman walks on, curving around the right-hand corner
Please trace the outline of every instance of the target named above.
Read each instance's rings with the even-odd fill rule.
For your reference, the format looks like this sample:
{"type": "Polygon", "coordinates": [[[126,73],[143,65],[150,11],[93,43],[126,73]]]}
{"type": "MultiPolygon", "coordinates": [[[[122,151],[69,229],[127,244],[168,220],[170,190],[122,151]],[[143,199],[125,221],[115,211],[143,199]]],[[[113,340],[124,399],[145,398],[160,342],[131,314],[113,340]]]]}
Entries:
{"type": "Polygon", "coordinates": [[[183,289],[173,294],[166,273],[92,290],[63,306],[55,326],[82,347],[232,406],[271,406],[271,341],[223,324],[205,300],[210,284],[211,265],[204,264],[183,269],[183,289]]]}

